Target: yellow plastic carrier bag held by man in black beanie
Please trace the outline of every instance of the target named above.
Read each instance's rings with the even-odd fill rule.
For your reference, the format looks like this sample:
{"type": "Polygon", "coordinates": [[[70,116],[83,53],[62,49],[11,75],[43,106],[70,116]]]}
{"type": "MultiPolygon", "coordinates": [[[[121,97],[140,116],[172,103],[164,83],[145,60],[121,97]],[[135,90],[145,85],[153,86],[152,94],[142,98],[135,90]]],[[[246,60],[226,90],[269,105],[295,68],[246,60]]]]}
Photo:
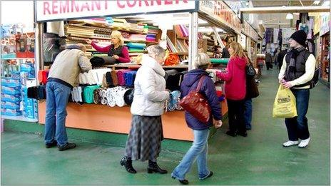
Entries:
{"type": "Polygon", "coordinates": [[[297,116],[295,96],[289,88],[280,85],[273,103],[273,117],[293,118],[295,116],[297,116]]]}

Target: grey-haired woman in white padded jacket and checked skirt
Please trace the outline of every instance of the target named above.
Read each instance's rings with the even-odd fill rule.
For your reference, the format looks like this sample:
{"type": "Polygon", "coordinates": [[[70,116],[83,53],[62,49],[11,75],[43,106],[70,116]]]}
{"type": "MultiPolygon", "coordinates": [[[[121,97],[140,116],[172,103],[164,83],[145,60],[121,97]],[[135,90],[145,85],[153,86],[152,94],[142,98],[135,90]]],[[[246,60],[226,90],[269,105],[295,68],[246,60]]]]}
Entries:
{"type": "Polygon", "coordinates": [[[147,172],[167,173],[158,167],[156,159],[161,151],[163,130],[161,115],[163,105],[169,98],[165,91],[164,62],[165,51],[161,46],[149,46],[144,55],[142,66],[136,74],[135,91],[131,105],[131,130],[126,141],[126,153],[121,165],[130,173],[136,173],[132,160],[148,160],[147,172]]]}

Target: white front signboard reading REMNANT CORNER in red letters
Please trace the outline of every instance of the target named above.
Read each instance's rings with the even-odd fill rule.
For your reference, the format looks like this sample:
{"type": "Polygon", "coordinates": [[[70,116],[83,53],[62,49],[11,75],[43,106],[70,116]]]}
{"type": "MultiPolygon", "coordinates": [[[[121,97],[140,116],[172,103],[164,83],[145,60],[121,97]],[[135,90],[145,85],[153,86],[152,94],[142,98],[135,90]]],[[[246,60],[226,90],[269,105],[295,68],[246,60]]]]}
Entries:
{"type": "Polygon", "coordinates": [[[35,1],[37,22],[82,19],[123,14],[196,11],[195,1],[189,0],[113,0],[113,1],[35,1]]]}

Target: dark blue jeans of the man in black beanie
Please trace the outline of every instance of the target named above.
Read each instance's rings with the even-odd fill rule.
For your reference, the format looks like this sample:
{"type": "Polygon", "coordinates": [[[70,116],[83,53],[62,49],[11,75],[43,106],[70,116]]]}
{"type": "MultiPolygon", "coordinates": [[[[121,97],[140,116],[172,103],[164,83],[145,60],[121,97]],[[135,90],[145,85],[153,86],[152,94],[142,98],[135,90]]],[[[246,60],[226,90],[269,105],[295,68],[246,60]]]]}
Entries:
{"type": "Polygon", "coordinates": [[[285,119],[288,139],[291,141],[305,140],[310,136],[306,118],[310,91],[309,89],[291,89],[291,91],[295,95],[297,103],[297,117],[285,119]]]}

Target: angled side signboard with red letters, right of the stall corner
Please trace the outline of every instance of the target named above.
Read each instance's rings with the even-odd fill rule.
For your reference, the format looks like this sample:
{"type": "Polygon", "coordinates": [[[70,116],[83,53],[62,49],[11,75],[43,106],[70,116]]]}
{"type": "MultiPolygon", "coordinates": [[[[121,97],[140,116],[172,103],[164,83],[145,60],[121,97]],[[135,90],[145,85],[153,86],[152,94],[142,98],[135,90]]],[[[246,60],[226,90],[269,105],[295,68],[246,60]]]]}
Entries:
{"type": "Polygon", "coordinates": [[[233,29],[240,34],[240,19],[233,10],[223,1],[200,1],[199,11],[233,29]]]}

